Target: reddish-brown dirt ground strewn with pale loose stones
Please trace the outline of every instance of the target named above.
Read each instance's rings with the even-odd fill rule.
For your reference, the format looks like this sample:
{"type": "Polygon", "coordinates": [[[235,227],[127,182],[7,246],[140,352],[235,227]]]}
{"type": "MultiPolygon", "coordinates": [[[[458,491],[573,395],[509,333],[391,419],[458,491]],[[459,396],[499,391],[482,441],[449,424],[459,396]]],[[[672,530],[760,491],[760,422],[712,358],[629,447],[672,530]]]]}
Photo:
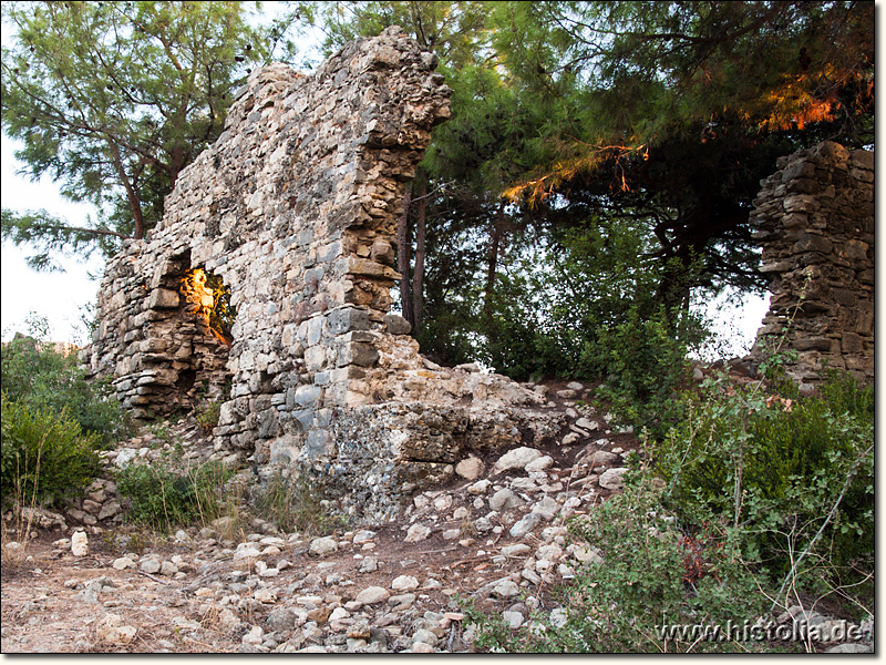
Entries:
{"type": "MultiPolygon", "coordinates": [[[[529,387],[558,392],[556,385],[529,387]]],[[[579,411],[554,399],[571,409],[574,423],[579,411]]],[[[583,407],[581,418],[599,426],[589,430],[607,429],[593,409],[583,407]]],[[[186,450],[210,448],[209,439],[192,436],[195,428],[187,420],[174,427],[186,450]]],[[[143,432],[117,450],[143,448],[150,437],[143,432]]],[[[392,522],[324,535],[281,532],[260,520],[254,532],[237,531],[233,519],[220,518],[144,542],[121,524],[120,513],[93,524],[78,519],[80,503],[27,546],[7,543],[10,555],[30,559],[3,566],[2,649],[471,652],[473,633],[456,594],[515,630],[535,606],[565,618],[555,586],[583,564],[606,565],[605,544],[571,542],[566,519],[618,492],[625,456],[642,454],[630,434],[589,431],[568,440],[568,452],[555,440],[468,458],[462,473],[416,493],[392,522]],[[78,555],[74,544],[84,536],[87,553],[78,555]]],[[[109,464],[114,459],[106,457],[109,464]]],[[[102,505],[122,504],[110,481],[95,488],[102,505]]],[[[803,616],[796,607],[779,621],[836,620],[803,616]]],[[[873,623],[861,632],[867,637],[820,651],[869,653],[873,623]]]]}

